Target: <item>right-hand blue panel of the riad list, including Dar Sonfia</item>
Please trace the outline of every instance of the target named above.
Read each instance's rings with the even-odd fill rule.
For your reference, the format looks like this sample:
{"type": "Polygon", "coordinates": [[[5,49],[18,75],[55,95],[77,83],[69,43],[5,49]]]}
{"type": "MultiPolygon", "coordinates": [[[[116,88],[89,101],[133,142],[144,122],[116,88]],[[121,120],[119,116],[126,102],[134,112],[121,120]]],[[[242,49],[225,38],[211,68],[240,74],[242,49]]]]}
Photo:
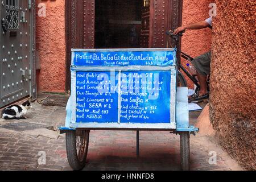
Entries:
{"type": "MultiPolygon", "coordinates": [[[[170,123],[170,71],[127,71],[125,75],[147,75],[147,84],[121,94],[121,123],[170,123]],[[152,82],[152,84],[150,84],[152,82]],[[160,82],[160,83],[158,83],[160,82]]],[[[134,78],[135,82],[136,77],[134,78]]],[[[129,85],[127,85],[129,86],[129,85]]],[[[135,84],[133,84],[135,86],[135,84]]]]}

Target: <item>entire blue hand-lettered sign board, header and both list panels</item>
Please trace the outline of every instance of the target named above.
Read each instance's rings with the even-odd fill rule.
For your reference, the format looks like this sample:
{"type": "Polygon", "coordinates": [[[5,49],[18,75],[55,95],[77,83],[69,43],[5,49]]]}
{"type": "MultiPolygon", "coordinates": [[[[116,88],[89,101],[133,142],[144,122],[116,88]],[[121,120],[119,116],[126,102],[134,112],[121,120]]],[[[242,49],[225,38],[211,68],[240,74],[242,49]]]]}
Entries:
{"type": "MultiPolygon", "coordinates": [[[[174,49],[76,49],[76,123],[174,123],[174,49]]],[[[74,101],[73,101],[74,102],[74,101]]]]}

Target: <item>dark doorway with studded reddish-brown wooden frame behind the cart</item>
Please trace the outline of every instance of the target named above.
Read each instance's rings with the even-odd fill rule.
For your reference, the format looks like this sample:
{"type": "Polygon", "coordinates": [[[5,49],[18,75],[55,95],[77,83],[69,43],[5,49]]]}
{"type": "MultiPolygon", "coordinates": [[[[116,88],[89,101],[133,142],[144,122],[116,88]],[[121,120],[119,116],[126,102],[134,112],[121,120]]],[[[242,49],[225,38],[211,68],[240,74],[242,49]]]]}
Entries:
{"type": "Polygon", "coordinates": [[[65,0],[66,92],[72,48],[166,47],[165,32],[181,25],[182,5],[182,0],[65,0]]]}

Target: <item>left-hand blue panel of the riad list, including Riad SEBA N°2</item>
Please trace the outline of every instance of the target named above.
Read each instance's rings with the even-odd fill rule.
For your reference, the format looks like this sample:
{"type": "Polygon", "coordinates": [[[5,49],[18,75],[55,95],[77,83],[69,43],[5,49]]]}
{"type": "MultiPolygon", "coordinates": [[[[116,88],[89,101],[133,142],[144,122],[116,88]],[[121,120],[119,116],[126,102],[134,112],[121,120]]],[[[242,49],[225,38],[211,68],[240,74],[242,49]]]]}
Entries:
{"type": "Polygon", "coordinates": [[[76,122],[118,121],[116,75],[115,72],[76,72],[76,122]],[[113,84],[109,84],[111,81],[113,84]]]}

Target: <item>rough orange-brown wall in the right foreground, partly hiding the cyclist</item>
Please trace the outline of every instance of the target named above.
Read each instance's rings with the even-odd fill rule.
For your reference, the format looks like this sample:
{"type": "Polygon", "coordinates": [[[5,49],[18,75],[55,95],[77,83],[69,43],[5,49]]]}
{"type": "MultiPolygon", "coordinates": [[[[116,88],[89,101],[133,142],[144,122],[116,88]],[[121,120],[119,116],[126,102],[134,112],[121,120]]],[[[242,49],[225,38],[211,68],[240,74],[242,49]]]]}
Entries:
{"type": "Polygon", "coordinates": [[[216,3],[210,119],[226,151],[242,166],[256,169],[256,1],[216,3]]]}

